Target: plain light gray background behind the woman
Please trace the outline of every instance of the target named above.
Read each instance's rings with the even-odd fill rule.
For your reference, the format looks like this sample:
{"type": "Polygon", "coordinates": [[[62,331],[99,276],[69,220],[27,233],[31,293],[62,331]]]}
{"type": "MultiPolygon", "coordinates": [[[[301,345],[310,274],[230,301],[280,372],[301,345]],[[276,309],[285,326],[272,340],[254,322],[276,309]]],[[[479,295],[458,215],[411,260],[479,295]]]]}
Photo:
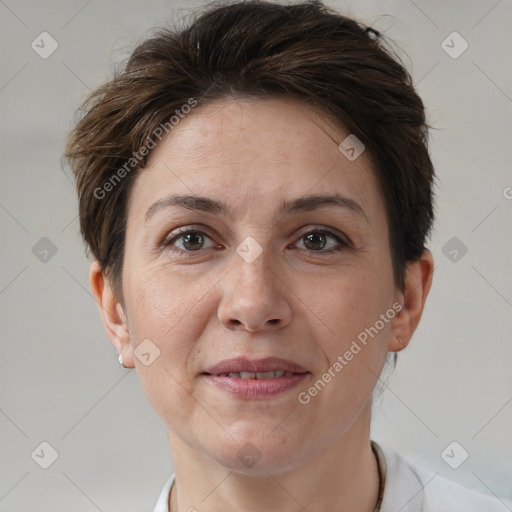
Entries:
{"type": "MultiPolygon", "coordinates": [[[[60,157],[89,89],[147,29],[201,4],[0,0],[2,512],[152,510],[172,471],[165,427],[136,371],[119,366],[89,292],[74,183],[60,157]],[[43,31],[59,45],[47,59],[31,48],[43,31]],[[43,237],[57,248],[46,262],[32,251],[43,237]],[[31,457],[43,441],[58,452],[48,469],[31,457]]],[[[373,437],[511,499],[512,2],[329,5],[405,50],[437,128],[434,284],[375,406],[373,437]],[[441,47],[453,31],[469,43],[456,59],[441,47]],[[453,237],[467,247],[455,262],[446,245],[453,237]],[[458,469],[441,457],[452,441],[469,453],[458,469]]]]}

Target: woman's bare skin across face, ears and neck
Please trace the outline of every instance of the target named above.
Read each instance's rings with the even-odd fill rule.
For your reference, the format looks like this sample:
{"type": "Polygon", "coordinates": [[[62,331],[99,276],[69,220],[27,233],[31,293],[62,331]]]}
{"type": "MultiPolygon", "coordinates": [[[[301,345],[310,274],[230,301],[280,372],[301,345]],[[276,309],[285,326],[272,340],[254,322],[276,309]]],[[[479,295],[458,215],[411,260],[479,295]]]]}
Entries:
{"type": "Polygon", "coordinates": [[[434,263],[425,250],[408,266],[405,290],[395,287],[372,159],[364,151],[349,161],[339,151],[348,134],[292,99],[198,105],[135,181],[124,309],[98,263],[91,265],[108,337],[125,366],[137,369],[168,428],[173,511],[373,511],[379,480],[370,447],[372,392],[388,352],[406,347],[420,321],[434,263]],[[359,203],[367,221],[335,206],[277,213],[284,200],[332,192],[359,203]],[[150,205],[176,193],[222,201],[232,217],[175,206],[144,223],[150,205]],[[202,231],[202,241],[162,247],[178,227],[202,231]],[[308,240],[315,228],[350,245],[331,235],[308,240]],[[252,263],[236,252],[248,236],[262,248],[252,263]],[[309,403],[299,403],[299,392],[393,303],[402,310],[309,403]],[[160,351],[148,366],[134,355],[145,339],[160,351]],[[282,357],[311,373],[299,388],[263,400],[235,397],[201,375],[238,355],[282,357]],[[261,455],[251,467],[237,456],[248,442],[261,455]]]}

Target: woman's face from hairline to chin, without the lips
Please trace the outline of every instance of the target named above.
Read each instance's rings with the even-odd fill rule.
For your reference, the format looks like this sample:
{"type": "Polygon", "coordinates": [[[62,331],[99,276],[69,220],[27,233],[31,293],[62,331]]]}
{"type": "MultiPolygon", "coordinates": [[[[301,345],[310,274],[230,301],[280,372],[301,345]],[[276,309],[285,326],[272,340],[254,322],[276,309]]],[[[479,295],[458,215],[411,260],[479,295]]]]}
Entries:
{"type": "Polygon", "coordinates": [[[218,100],[174,126],[132,189],[123,290],[131,347],[144,342],[133,361],[172,435],[225,467],[293,468],[368,420],[403,297],[370,157],[344,154],[348,135],[292,100],[218,100]],[[333,194],[358,206],[303,201],[333,194]],[[166,205],[172,195],[224,210],[166,205]],[[204,374],[238,356],[308,373],[252,398],[204,374]]]}

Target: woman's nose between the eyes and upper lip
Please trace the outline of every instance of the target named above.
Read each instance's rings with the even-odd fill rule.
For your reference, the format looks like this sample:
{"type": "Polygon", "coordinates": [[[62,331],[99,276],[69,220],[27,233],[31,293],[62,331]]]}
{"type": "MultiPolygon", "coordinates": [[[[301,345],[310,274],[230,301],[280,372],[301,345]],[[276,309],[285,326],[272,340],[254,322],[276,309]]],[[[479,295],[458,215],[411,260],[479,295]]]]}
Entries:
{"type": "Polygon", "coordinates": [[[268,332],[290,323],[293,294],[270,260],[267,249],[250,263],[233,255],[234,268],[220,282],[218,308],[219,320],[228,329],[268,332]]]}

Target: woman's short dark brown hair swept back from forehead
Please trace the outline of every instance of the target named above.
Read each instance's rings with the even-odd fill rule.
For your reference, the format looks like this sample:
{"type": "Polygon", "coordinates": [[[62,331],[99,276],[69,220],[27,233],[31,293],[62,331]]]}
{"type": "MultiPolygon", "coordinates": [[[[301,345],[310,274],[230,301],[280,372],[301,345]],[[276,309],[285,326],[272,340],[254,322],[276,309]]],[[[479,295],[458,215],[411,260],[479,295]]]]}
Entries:
{"type": "Polygon", "coordinates": [[[183,29],[157,29],[139,44],[83,103],[65,153],[82,236],[116,296],[122,300],[127,198],[148,157],[135,161],[135,153],[191,98],[233,95],[305,100],[364,143],[376,162],[394,279],[403,290],[407,262],[420,258],[433,223],[431,127],[408,71],[385,42],[318,0],[256,0],[214,3],[183,29]],[[116,173],[122,179],[114,183],[116,173]],[[106,183],[108,199],[98,197],[106,183]]]}

